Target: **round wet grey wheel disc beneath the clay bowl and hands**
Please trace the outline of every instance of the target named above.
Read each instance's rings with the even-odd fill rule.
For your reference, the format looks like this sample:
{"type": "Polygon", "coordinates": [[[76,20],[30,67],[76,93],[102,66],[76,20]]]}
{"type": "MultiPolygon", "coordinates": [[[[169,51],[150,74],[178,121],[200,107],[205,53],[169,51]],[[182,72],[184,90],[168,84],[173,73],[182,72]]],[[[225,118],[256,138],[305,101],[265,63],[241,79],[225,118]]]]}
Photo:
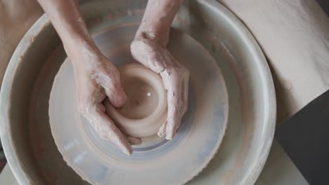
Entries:
{"type": "MultiPolygon", "coordinates": [[[[134,61],[129,45],[137,24],[96,34],[98,47],[117,67],[134,61]]],[[[188,111],[172,141],[142,139],[126,156],[99,137],[79,115],[70,61],[60,67],[51,90],[51,132],[67,164],[91,184],[183,184],[207,166],[224,137],[228,117],[226,85],[214,59],[191,36],[172,30],[170,52],[191,72],[188,111]]]]}

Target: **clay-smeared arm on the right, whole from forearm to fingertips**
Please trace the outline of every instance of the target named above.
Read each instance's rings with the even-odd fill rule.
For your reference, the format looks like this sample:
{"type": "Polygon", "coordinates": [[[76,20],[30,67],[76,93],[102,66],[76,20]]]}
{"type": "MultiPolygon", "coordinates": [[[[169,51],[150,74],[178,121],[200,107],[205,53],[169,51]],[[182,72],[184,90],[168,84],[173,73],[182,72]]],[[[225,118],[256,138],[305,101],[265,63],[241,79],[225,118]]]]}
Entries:
{"type": "Polygon", "coordinates": [[[168,115],[157,135],[173,139],[188,106],[189,71],[180,64],[166,46],[172,20],[182,0],[149,0],[131,54],[138,62],[160,74],[167,89],[168,115]]]}

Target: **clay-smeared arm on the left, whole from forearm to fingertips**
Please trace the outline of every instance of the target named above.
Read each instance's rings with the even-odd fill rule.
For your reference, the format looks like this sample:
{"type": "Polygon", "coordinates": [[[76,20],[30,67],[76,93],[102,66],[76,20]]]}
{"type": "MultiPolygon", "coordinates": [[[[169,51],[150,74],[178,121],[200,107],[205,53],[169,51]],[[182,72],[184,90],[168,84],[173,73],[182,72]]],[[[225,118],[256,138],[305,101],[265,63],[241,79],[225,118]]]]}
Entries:
{"type": "Polygon", "coordinates": [[[127,101],[120,83],[120,74],[93,42],[79,11],[79,1],[38,1],[49,15],[63,42],[67,57],[72,62],[80,113],[103,139],[109,140],[130,155],[132,149],[129,142],[138,144],[141,139],[125,137],[105,114],[103,106],[105,98],[115,107],[121,107],[127,101]]]}

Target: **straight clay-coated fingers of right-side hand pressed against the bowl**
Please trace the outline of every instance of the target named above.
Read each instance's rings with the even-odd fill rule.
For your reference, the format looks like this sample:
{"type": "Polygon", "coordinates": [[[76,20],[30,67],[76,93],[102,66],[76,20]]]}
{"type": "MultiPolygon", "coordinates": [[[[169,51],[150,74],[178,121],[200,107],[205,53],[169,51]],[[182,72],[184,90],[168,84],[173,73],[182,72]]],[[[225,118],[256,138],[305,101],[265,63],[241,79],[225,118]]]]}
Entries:
{"type": "Polygon", "coordinates": [[[181,119],[181,79],[176,70],[166,70],[161,73],[167,89],[168,114],[166,125],[166,139],[172,140],[176,134],[176,125],[181,119]]]}

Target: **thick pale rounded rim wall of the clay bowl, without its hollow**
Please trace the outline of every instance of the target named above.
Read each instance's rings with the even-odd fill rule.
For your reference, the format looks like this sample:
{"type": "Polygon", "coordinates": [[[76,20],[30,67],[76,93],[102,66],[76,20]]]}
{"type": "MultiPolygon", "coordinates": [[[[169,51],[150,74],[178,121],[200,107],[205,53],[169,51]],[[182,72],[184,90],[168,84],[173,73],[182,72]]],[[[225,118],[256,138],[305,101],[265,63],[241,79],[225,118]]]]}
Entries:
{"type": "Polygon", "coordinates": [[[115,121],[115,124],[126,135],[131,137],[149,137],[157,133],[161,125],[167,121],[167,90],[164,89],[162,78],[138,63],[125,64],[119,68],[120,75],[128,79],[140,80],[150,85],[157,94],[157,106],[144,118],[129,118],[124,116],[109,101],[105,102],[106,112],[115,121]],[[129,130],[139,130],[129,132],[129,130]]]}

